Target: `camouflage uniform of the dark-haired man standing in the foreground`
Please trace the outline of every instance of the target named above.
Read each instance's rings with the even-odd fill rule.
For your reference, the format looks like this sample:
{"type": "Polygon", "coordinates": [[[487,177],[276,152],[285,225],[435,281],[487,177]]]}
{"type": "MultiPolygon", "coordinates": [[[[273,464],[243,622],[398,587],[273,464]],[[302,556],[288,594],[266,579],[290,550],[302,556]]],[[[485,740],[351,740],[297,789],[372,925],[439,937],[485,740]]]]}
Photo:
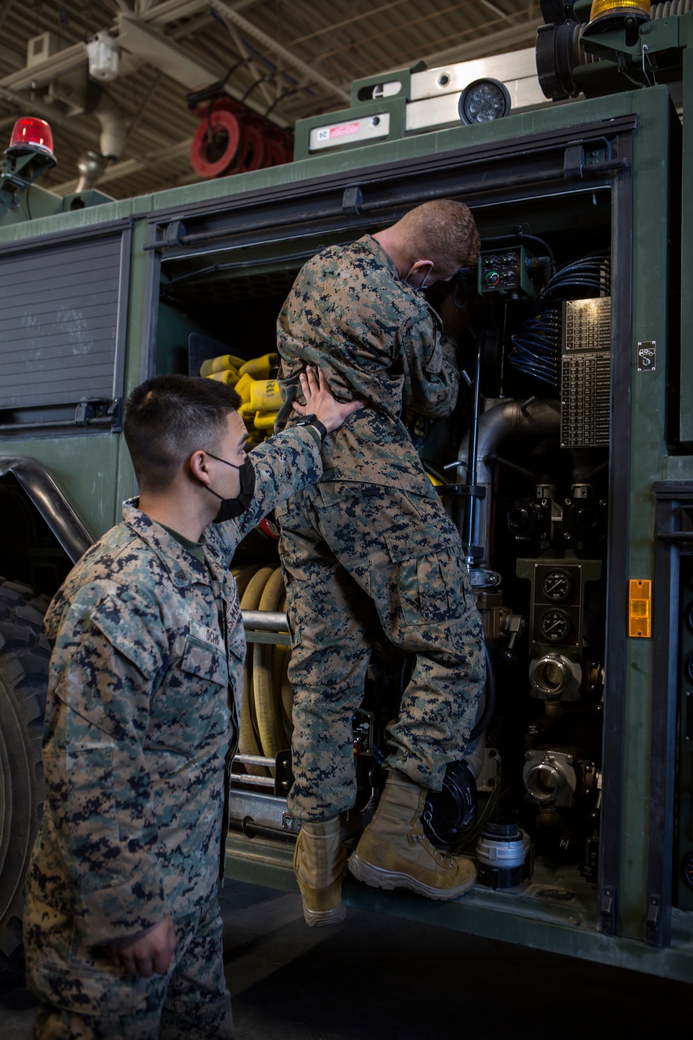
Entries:
{"type": "Polygon", "coordinates": [[[24,919],[28,985],[60,1009],[44,1036],[150,1040],[160,1018],[162,1036],[233,1035],[216,883],[245,635],[229,563],[262,517],[320,476],[314,433],[254,450],[255,497],[206,528],[205,564],[126,502],[49,607],[48,794],[24,919]],[[111,966],[106,943],[166,914],[178,940],[168,976],[111,966]],[[71,1016],[98,1017],[80,1032],[71,1016]]]}

